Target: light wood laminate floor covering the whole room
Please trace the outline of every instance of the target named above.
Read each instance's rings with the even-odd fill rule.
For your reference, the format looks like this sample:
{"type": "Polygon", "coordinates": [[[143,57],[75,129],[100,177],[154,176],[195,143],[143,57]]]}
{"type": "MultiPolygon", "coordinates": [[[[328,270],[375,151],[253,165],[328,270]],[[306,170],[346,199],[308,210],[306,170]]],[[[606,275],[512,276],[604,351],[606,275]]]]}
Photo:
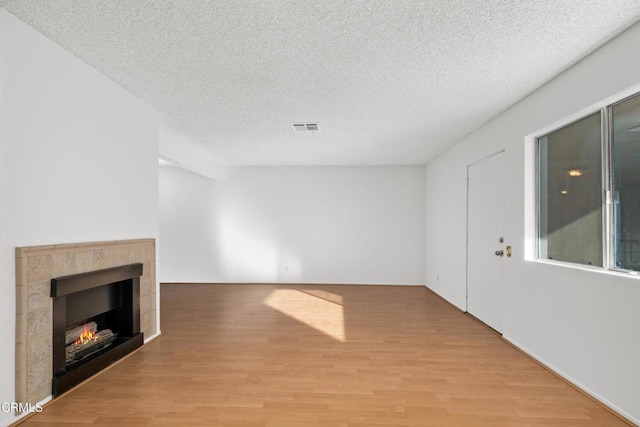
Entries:
{"type": "Polygon", "coordinates": [[[163,336],[23,426],[617,426],[423,287],[161,287],[163,336]]]}

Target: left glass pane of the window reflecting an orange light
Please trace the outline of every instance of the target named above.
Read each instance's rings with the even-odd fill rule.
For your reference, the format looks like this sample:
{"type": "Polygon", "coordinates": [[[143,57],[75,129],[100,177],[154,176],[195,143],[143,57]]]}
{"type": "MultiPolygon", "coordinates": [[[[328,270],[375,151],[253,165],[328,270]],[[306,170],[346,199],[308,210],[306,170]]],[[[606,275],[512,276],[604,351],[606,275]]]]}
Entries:
{"type": "Polygon", "coordinates": [[[601,113],[538,138],[538,257],[602,266],[601,113]]]}

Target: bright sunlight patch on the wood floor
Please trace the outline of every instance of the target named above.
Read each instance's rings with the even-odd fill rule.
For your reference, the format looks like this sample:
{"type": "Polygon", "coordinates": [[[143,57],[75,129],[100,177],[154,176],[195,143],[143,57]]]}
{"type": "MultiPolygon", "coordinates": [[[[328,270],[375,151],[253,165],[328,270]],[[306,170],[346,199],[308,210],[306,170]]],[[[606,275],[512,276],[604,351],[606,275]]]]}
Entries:
{"type": "Polygon", "coordinates": [[[335,340],[345,341],[340,295],[319,290],[276,289],[264,304],[335,340]]]}

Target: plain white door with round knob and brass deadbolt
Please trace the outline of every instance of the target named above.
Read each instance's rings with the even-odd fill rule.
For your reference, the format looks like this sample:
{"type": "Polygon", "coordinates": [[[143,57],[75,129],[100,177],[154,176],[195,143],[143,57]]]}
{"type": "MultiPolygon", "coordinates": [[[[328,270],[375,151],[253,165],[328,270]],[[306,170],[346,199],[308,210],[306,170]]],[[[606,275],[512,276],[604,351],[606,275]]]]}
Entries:
{"type": "Polygon", "coordinates": [[[502,332],[504,152],[467,168],[467,312],[502,332]]]}

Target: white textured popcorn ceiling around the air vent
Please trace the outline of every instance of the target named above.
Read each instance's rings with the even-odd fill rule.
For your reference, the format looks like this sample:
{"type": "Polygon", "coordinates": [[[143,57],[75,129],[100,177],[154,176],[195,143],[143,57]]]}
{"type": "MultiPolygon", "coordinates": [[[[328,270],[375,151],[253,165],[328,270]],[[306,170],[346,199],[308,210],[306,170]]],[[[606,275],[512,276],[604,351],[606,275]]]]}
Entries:
{"type": "Polygon", "coordinates": [[[638,0],[0,5],[227,165],[423,164],[640,19],[638,0]]]}

